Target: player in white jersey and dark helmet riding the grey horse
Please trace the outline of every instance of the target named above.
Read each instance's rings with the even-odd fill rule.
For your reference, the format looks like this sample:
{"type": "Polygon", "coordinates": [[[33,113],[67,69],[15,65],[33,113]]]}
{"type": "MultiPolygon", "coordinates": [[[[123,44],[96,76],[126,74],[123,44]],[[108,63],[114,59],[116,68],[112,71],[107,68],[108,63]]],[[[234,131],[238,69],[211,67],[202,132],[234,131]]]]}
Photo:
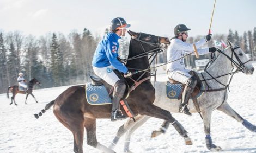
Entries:
{"type": "MultiPolygon", "coordinates": [[[[184,56],[194,52],[193,44],[186,43],[188,30],[191,29],[188,29],[184,24],[179,24],[174,28],[175,37],[172,38],[170,46],[167,49],[167,62],[170,62],[167,65],[167,76],[170,79],[186,84],[184,92],[182,93],[182,102],[179,112],[191,115],[187,103],[194,87],[196,87],[197,80],[196,77],[188,74],[191,70],[186,69],[184,65],[184,56]]],[[[208,34],[205,38],[195,43],[199,55],[216,51],[215,47],[199,49],[199,47],[210,40],[211,34],[208,34]]],[[[194,53],[192,54],[194,55],[194,53]]]]}

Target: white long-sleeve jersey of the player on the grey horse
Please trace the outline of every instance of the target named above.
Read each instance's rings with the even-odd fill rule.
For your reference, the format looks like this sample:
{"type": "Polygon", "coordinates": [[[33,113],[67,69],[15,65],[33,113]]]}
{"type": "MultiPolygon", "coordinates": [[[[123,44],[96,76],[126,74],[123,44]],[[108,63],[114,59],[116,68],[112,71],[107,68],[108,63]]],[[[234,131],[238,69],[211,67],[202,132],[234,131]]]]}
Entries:
{"type": "MultiPolygon", "coordinates": [[[[205,39],[201,39],[196,42],[196,47],[199,48],[205,44],[205,39]]],[[[209,48],[197,49],[199,55],[204,55],[209,53],[209,48]]],[[[174,70],[180,70],[188,72],[190,70],[185,69],[184,58],[185,54],[190,54],[194,52],[193,44],[183,42],[180,39],[172,39],[170,41],[170,46],[167,49],[167,62],[173,61],[167,64],[167,71],[172,72],[174,70]],[[177,60],[179,59],[179,60],[177,60]],[[176,60],[176,61],[175,61],[176,60]]],[[[192,53],[194,55],[194,53],[192,53]]]]}

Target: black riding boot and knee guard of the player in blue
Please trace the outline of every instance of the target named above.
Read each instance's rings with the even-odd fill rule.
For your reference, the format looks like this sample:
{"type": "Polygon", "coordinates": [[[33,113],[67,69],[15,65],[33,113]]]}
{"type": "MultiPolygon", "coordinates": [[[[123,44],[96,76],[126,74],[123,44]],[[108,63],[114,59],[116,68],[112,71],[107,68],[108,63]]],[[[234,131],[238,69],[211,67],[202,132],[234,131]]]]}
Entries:
{"type": "Polygon", "coordinates": [[[118,110],[120,100],[121,98],[123,98],[125,92],[125,88],[126,86],[123,81],[119,80],[117,81],[117,83],[115,83],[112,99],[111,121],[122,120],[126,118],[126,116],[124,116],[123,113],[120,110],[118,110]]]}

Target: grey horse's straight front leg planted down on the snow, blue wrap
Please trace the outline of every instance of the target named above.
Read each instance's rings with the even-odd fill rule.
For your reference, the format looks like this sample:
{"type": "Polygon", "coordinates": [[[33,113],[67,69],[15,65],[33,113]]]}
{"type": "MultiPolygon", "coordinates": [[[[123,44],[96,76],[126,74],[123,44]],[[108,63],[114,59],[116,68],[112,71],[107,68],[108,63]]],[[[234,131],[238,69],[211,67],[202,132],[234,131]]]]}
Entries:
{"type": "Polygon", "coordinates": [[[211,133],[210,133],[210,126],[211,126],[211,110],[204,110],[202,111],[203,121],[204,121],[204,132],[205,132],[205,142],[206,146],[211,151],[221,151],[220,146],[216,146],[212,143],[211,133]]]}

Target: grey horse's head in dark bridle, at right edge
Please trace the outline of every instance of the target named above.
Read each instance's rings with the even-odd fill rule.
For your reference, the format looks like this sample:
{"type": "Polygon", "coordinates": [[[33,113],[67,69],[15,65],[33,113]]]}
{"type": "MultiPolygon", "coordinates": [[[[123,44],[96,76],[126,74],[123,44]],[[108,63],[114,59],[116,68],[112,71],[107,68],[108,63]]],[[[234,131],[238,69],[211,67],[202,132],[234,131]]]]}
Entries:
{"type": "Polygon", "coordinates": [[[253,74],[254,67],[252,63],[249,62],[250,60],[246,56],[245,52],[239,47],[236,46],[234,43],[228,40],[228,46],[231,50],[231,59],[233,60],[233,66],[237,69],[240,69],[245,74],[253,74]]]}

